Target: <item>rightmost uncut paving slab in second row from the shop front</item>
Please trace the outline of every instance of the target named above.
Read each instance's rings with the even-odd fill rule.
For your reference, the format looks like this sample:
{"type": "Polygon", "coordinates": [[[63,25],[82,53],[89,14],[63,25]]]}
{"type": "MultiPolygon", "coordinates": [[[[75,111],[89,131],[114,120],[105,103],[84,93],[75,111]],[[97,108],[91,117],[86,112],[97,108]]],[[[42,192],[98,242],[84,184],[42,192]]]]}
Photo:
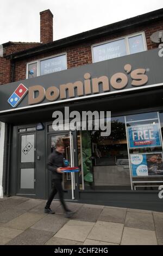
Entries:
{"type": "Polygon", "coordinates": [[[125,227],[139,228],[146,230],[155,230],[152,214],[144,214],[142,212],[127,212],[125,227]]]}

